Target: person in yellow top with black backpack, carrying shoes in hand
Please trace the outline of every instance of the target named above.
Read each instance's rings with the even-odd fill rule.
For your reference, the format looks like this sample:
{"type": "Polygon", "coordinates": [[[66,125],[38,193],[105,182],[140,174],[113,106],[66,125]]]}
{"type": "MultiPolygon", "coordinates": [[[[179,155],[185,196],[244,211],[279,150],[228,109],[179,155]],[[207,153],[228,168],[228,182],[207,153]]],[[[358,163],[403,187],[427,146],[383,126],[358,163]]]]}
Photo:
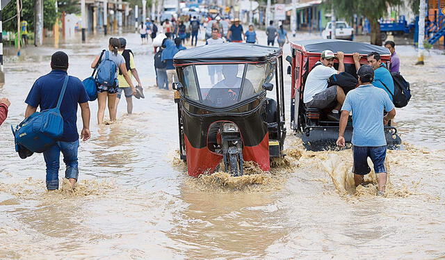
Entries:
{"type": "MultiPolygon", "coordinates": [[[[136,64],[134,63],[133,51],[131,49],[125,49],[127,46],[127,40],[124,38],[119,38],[120,48],[118,49],[118,54],[122,55],[125,60],[125,66],[127,67],[127,74],[131,78],[131,76],[138,81],[138,86],[142,88],[142,83],[140,83],[138,70],[136,70],[136,64]]],[[[129,83],[124,79],[122,75],[122,71],[119,70],[118,75],[119,88],[118,88],[118,96],[116,97],[116,111],[118,110],[118,104],[120,101],[120,97],[122,96],[122,92],[124,92],[125,99],[127,100],[127,113],[133,113],[133,95],[136,95],[136,88],[133,86],[129,86],[129,83]]]]}

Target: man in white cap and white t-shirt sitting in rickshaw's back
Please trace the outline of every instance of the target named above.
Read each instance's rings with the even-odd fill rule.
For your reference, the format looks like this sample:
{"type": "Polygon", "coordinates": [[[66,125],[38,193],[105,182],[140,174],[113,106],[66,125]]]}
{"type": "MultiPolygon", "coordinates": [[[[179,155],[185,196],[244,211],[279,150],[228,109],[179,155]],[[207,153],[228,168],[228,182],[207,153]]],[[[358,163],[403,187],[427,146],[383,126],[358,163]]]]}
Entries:
{"type": "Polygon", "coordinates": [[[343,88],[339,86],[327,88],[327,80],[333,74],[339,74],[345,71],[343,52],[337,52],[337,58],[339,60],[338,71],[334,69],[334,58],[336,57],[330,50],[325,50],[321,53],[320,61],[314,65],[307,75],[303,102],[305,102],[307,108],[333,108],[330,113],[327,113],[327,118],[339,121],[339,110],[341,106],[343,106],[346,95],[343,88]]]}

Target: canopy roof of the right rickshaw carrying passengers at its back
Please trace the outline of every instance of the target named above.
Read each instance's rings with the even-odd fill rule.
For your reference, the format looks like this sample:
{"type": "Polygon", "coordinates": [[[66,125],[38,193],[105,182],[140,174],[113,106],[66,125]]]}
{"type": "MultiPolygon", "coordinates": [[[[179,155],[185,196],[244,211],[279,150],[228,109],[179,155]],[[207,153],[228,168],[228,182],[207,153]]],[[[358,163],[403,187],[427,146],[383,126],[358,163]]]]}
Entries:
{"type": "Polygon", "coordinates": [[[306,51],[309,52],[322,52],[325,49],[331,51],[343,51],[345,54],[353,54],[358,52],[359,54],[369,54],[376,51],[378,54],[391,54],[385,47],[372,45],[363,42],[351,42],[349,40],[330,40],[330,39],[318,39],[318,40],[302,40],[294,42],[294,44],[302,45],[306,51]]]}

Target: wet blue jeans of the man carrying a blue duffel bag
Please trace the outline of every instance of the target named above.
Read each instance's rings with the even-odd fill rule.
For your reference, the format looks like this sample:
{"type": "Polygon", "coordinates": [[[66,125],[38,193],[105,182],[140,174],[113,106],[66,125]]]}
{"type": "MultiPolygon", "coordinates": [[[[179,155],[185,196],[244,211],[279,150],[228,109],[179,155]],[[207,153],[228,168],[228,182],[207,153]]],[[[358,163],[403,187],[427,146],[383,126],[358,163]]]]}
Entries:
{"type": "Polygon", "coordinates": [[[77,163],[77,149],[79,149],[79,140],[74,142],[57,141],[55,145],[49,147],[43,152],[45,163],[47,163],[47,189],[58,189],[58,169],[60,168],[60,152],[63,154],[63,162],[67,166],[65,178],[76,179],[79,177],[79,168],[77,163]]]}

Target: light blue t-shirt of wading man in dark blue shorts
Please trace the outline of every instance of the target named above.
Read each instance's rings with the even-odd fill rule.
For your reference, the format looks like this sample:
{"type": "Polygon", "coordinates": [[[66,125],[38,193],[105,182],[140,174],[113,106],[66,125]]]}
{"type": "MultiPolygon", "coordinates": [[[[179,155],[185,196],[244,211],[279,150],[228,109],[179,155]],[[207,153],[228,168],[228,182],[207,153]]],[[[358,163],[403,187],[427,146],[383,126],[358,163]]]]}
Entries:
{"type": "Polygon", "coordinates": [[[387,145],[383,129],[383,111],[389,112],[393,109],[394,104],[387,92],[371,84],[350,90],[341,110],[353,112],[353,145],[387,145]]]}

